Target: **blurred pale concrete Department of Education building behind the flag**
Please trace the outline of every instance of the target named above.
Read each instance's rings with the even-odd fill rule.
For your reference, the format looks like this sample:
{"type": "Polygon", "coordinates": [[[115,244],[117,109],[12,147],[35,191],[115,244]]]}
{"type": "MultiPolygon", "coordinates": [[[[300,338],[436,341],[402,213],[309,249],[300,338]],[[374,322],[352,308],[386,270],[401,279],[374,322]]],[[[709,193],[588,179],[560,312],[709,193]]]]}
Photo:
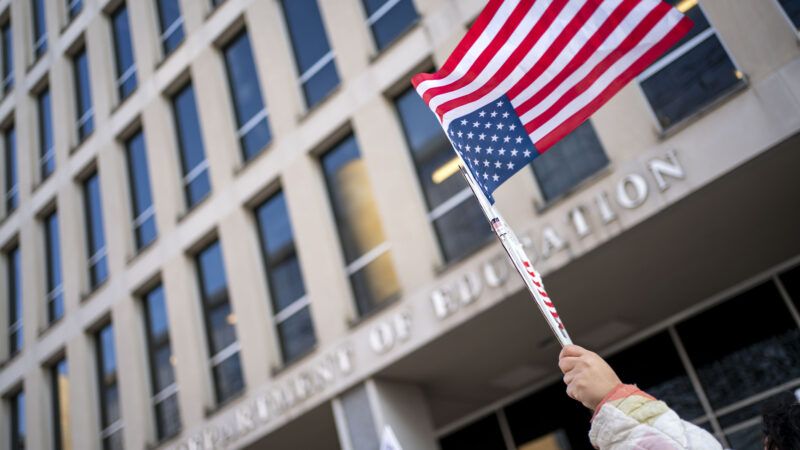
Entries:
{"type": "MultiPolygon", "coordinates": [[[[483,3],[0,0],[2,448],[590,448],[410,90],[483,3]]],[[[496,197],[577,343],[756,449],[800,392],[800,1],[673,4],[496,197]]]]}

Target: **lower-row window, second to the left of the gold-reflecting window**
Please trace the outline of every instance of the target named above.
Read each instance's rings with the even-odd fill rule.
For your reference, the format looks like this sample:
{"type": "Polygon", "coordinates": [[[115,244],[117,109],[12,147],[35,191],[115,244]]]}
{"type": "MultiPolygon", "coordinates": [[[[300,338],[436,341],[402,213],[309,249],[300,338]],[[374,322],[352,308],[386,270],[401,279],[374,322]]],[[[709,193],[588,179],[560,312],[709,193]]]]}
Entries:
{"type": "Polygon", "coordinates": [[[208,354],[214,375],[217,403],[224,403],[244,389],[236,316],[228,300],[228,280],[222,247],[214,241],[195,256],[206,323],[208,354]]]}

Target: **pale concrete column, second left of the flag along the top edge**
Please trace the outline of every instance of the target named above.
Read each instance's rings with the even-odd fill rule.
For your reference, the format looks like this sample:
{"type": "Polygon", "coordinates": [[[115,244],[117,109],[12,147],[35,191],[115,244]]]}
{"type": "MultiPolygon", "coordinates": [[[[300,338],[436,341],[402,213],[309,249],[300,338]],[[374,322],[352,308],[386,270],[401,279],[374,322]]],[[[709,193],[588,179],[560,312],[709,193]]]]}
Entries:
{"type": "Polygon", "coordinates": [[[273,141],[290,132],[304,109],[297,65],[280,2],[252,2],[245,10],[247,32],[269,111],[273,141]],[[287,89],[294,86],[294,89],[287,89]]]}

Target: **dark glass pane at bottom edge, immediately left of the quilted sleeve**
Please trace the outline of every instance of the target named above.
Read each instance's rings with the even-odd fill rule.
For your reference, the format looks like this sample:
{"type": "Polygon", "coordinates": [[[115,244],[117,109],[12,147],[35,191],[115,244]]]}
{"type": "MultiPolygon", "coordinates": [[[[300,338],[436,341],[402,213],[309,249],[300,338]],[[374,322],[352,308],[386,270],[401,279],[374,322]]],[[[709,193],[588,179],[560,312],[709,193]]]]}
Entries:
{"type": "Polygon", "coordinates": [[[566,387],[560,381],[512,403],[505,408],[505,414],[514,443],[521,448],[550,437],[566,441],[560,448],[592,449],[591,413],[567,397],[566,387]]]}

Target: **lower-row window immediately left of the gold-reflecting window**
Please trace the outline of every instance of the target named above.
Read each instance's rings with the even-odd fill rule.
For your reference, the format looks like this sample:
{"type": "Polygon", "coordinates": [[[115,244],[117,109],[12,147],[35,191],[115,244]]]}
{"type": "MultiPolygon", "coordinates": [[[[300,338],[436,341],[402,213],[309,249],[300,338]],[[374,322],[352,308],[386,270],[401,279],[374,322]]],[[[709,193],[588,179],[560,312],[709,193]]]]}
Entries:
{"type": "Polygon", "coordinates": [[[283,360],[288,362],[307,353],[317,343],[317,338],[283,192],[258,206],[256,218],[272,312],[283,360]]]}

